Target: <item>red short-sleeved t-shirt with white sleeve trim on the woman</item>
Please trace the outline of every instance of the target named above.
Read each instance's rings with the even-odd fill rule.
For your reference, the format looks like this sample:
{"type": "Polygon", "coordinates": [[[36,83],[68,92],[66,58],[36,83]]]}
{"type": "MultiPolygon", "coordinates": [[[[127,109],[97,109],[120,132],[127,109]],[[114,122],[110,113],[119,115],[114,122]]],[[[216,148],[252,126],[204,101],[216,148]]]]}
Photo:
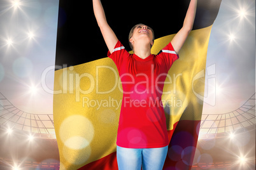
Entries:
{"type": "Polygon", "coordinates": [[[120,41],[108,56],[122,81],[123,100],[117,145],[125,148],[159,148],[169,145],[162,89],[176,55],[171,42],[158,55],[145,59],[129,54],[120,41]]]}

